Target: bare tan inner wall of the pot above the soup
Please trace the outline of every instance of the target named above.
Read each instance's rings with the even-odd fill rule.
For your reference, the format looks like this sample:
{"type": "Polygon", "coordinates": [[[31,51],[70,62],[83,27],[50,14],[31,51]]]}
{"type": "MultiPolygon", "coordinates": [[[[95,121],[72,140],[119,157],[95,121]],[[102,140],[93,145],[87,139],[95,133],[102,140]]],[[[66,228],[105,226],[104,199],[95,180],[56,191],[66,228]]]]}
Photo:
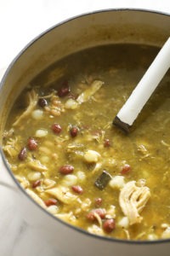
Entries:
{"type": "Polygon", "coordinates": [[[20,91],[55,61],[103,44],[161,46],[169,35],[168,15],[143,10],[108,10],[54,26],[28,44],[8,67],[1,85],[1,131],[20,91]]]}

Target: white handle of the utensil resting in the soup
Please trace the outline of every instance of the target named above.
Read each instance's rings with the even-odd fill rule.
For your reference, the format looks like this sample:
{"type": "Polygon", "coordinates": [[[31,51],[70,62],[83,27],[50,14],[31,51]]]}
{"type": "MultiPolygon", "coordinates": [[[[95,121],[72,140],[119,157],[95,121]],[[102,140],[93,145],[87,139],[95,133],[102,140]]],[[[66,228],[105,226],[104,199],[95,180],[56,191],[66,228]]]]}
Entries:
{"type": "Polygon", "coordinates": [[[156,55],[155,60],[146,73],[144,73],[143,78],[139,81],[127,102],[117,113],[116,118],[124,124],[133,125],[133,121],[137,118],[144,104],[148,101],[165,73],[167,73],[169,67],[170,38],[167,39],[167,42],[163,45],[158,55],[156,55]]]}

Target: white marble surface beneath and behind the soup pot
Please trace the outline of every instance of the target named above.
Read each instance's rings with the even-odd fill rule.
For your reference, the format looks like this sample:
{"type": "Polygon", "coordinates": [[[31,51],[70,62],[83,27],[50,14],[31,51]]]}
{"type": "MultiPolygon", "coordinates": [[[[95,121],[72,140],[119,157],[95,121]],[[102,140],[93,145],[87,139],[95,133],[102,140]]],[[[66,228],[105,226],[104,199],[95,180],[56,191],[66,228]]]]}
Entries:
{"type": "MultiPolygon", "coordinates": [[[[170,13],[167,0],[0,0],[0,69],[7,67],[20,49],[39,32],[60,20],[95,9],[118,7],[170,13]]],[[[20,218],[14,192],[3,186],[0,186],[0,255],[61,255],[49,247],[48,242],[42,243],[37,230],[20,218]]]]}

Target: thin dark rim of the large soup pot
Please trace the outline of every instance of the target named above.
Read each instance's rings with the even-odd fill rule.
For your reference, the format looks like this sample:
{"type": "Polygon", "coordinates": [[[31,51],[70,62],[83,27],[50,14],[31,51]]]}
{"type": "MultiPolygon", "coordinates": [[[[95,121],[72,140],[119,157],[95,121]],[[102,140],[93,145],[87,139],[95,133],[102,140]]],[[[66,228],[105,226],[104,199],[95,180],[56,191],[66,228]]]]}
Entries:
{"type": "MultiPolygon", "coordinates": [[[[156,15],[164,15],[164,16],[170,16],[170,13],[166,13],[163,11],[157,11],[157,10],[151,10],[151,9],[136,9],[136,8],[113,8],[113,9],[99,9],[99,10],[94,10],[94,11],[90,11],[87,13],[82,13],[80,15],[74,15],[71,18],[68,18],[66,20],[62,20],[59,23],[55,24],[54,26],[50,26],[48,29],[44,30],[43,32],[41,32],[39,35],[37,35],[37,37],[33,38],[28,44],[26,44],[26,46],[20,50],[20,52],[18,53],[18,55],[16,55],[13,59],[13,61],[11,61],[5,71],[5,73],[3,74],[3,78],[0,81],[0,90],[2,90],[3,88],[3,84],[5,82],[5,79],[8,77],[8,73],[10,71],[10,69],[13,68],[15,61],[17,61],[20,56],[26,51],[26,49],[28,49],[32,44],[34,44],[35,42],[37,42],[37,40],[39,40],[40,38],[42,38],[45,34],[47,34],[48,32],[51,32],[52,30],[54,30],[56,27],[61,26],[63,24],[66,24],[67,22],[70,22],[71,20],[76,20],[77,18],[81,18],[83,16],[88,16],[88,15],[95,15],[98,13],[102,13],[102,12],[122,12],[122,11],[134,11],[134,12],[144,12],[144,13],[150,13],[150,14],[156,14],[156,15]]],[[[75,231],[78,231],[80,233],[82,233],[82,235],[84,236],[91,236],[95,239],[99,239],[99,240],[104,240],[104,241],[109,241],[109,242],[117,242],[117,243],[127,243],[127,244],[133,244],[133,245],[149,245],[149,244],[160,244],[160,243],[167,243],[170,241],[170,239],[158,239],[158,240],[154,240],[154,241],[149,241],[149,240],[143,240],[143,241],[138,241],[138,240],[125,240],[125,239],[119,239],[119,238],[114,238],[114,237],[107,237],[107,236],[98,236],[95,234],[91,234],[86,230],[82,230],[81,228],[71,225],[69,223],[66,223],[65,221],[63,221],[60,218],[55,217],[53,214],[51,214],[50,212],[48,212],[47,210],[45,210],[44,208],[42,208],[40,205],[37,204],[36,201],[34,201],[30,195],[28,195],[26,193],[26,190],[23,189],[20,186],[20,183],[18,183],[18,181],[16,180],[16,178],[14,177],[13,172],[10,170],[6,157],[3,153],[3,148],[2,146],[0,147],[0,154],[2,155],[2,159],[3,159],[3,164],[4,166],[6,166],[6,169],[10,175],[10,177],[13,179],[14,183],[17,185],[17,187],[21,190],[22,193],[24,193],[24,195],[26,195],[26,197],[28,198],[28,200],[30,200],[31,202],[33,202],[33,204],[36,207],[39,207],[40,210],[42,210],[42,212],[44,212],[45,214],[48,215],[49,218],[53,218],[55,221],[59,222],[60,224],[64,224],[65,226],[67,226],[68,228],[71,228],[75,231]]]]}

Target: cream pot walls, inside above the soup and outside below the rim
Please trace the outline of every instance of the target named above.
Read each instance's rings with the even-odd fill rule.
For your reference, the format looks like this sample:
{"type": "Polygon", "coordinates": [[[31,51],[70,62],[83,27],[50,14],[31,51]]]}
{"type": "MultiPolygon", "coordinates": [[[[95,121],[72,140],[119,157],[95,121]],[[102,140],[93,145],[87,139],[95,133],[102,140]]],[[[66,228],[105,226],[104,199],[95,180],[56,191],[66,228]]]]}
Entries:
{"type": "MultiPolygon", "coordinates": [[[[169,37],[170,16],[137,9],[113,9],[66,20],[42,33],[26,46],[8,67],[0,87],[0,136],[8,113],[26,84],[55,61],[101,44],[150,44],[161,46],[169,37]]],[[[39,230],[42,242],[69,256],[166,256],[170,240],[123,241],[88,234],[66,224],[38,206],[17,183],[3,151],[1,185],[13,189],[21,218],[39,230]]]]}

